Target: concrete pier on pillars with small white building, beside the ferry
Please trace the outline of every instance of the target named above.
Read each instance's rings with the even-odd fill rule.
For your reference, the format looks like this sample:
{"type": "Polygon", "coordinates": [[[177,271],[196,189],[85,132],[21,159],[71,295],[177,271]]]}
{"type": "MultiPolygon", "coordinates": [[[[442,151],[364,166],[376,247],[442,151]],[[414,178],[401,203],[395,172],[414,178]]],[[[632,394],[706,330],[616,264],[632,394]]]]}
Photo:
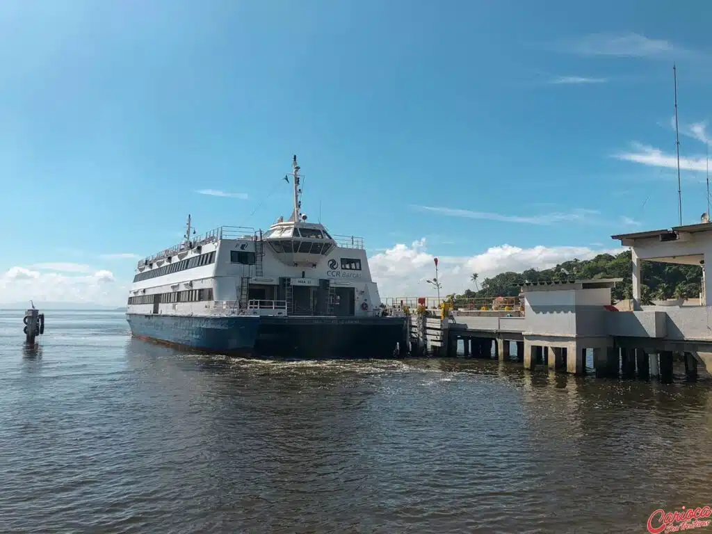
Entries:
{"type": "MultiPolygon", "coordinates": [[[[712,371],[712,307],[645,306],[619,311],[611,289],[621,278],[525,284],[521,310],[449,310],[444,317],[425,311],[411,318],[411,339],[421,352],[509,360],[511,347],[526,369],[585,373],[592,350],[599,376],[639,375],[669,381],[674,356],[689,377],[699,367],[712,371]]],[[[445,314],[444,314],[445,315],[445,314]]]]}

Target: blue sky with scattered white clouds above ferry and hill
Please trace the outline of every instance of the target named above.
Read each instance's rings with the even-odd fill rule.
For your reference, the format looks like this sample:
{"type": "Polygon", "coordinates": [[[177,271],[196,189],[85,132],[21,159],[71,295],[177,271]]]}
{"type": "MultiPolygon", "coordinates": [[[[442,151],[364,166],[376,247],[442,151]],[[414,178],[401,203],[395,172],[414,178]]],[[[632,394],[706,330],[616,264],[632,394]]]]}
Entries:
{"type": "Polygon", "coordinates": [[[135,257],[304,211],[382,293],[548,266],[706,210],[712,8],[663,1],[0,6],[0,302],[122,303],[135,257]],[[218,192],[201,194],[199,191],[218,192]],[[572,247],[572,248],[571,248],[572,247]],[[58,289],[61,288],[61,289],[58,289]]]}

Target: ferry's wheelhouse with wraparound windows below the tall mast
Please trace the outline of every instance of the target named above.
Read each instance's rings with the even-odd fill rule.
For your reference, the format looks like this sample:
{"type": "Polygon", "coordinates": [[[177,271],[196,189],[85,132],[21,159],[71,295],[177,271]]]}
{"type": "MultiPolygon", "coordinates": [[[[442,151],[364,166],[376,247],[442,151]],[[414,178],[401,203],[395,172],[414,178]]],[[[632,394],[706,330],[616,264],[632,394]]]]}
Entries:
{"type": "Polygon", "coordinates": [[[270,226],[262,239],[287,265],[316,265],[337,246],[323,225],[306,222],[278,222],[270,226]]]}

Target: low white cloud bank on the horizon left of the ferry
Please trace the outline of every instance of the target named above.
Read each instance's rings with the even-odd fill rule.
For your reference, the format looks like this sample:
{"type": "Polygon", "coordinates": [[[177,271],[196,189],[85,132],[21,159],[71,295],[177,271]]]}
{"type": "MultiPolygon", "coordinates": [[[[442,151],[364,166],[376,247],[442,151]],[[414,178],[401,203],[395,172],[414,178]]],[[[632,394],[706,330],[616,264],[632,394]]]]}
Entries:
{"type": "Polygon", "coordinates": [[[115,283],[105,269],[95,270],[73,263],[37,263],[32,268],[14,266],[0,273],[0,301],[6,304],[28,302],[94,303],[123,305],[127,283],[115,283]],[[51,270],[51,268],[54,270],[51,270]]]}

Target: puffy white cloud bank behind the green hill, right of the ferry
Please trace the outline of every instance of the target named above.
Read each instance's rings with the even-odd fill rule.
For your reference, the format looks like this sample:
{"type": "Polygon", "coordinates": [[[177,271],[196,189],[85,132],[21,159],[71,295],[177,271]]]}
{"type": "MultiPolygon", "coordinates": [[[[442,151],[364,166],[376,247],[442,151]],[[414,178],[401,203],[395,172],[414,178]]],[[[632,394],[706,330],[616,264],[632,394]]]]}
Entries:
{"type": "MultiPolygon", "coordinates": [[[[551,268],[562,261],[590,259],[600,253],[619,253],[624,248],[611,246],[594,250],[585,246],[535,246],[520,248],[502,245],[473,256],[438,256],[441,295],[462,293],[471,288],[470,276],[478,273],[479,283],[498,273],[521,272],[528,268],[551,268]]],[[[433,296],[426,283],[435,276],[434,257],[426,249],[425,239],[410,246],[397,244],[369,259],[371,274],[379,284],[381,298],[398,296],[433,296]]]]}

